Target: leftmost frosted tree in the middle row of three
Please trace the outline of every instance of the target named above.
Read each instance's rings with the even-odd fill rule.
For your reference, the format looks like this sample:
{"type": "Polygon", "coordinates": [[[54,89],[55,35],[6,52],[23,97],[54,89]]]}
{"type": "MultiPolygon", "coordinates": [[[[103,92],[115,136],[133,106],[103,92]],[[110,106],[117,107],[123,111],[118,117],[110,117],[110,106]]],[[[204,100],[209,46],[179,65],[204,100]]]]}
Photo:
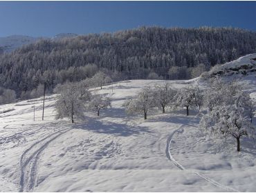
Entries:
{"type": "Polygon", "coordinates": [[[152,88],[143,88],[135,99],[125,101],[124,106],[129,114],[143,113],[144,119],[147,119],[147,112],[155,106],[152,88]]]}

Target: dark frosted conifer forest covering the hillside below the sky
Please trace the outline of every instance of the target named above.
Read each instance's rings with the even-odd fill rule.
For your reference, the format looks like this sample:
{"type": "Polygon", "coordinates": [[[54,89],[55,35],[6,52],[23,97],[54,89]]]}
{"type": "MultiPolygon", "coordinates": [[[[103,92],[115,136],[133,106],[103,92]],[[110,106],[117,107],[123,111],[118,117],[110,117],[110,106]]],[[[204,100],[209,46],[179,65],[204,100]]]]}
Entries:
{"type": "Polygon", "coordinates": [[[0,85],[20,96],[21,91],[33,90],[45,81],[49,87],[66,80],[80,81],[103,68],[113,80],[150,76],[188,79],[191,69],[201,63],[209,69],[253,52],[256,32],[237,28],[143,27],[113,34],[42,39],[0,54],[0,85]],[[175,73],[179,76],[173,76],[175,73]]]}

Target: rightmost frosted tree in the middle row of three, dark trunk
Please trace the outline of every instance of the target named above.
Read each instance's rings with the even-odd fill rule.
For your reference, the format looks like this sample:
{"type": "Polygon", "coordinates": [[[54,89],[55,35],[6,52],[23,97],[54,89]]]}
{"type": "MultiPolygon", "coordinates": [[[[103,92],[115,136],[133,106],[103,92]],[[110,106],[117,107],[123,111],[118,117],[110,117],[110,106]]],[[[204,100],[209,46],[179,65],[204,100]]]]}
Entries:
{"type": "Polygon", "coordinates": [[[185,88],[178,90],[177,96],[177,104],[182,108],[186,108],[188,116],[190,114],[189,108],[196,105],[196,88],[192,85],[187,85],[185,88]]]}

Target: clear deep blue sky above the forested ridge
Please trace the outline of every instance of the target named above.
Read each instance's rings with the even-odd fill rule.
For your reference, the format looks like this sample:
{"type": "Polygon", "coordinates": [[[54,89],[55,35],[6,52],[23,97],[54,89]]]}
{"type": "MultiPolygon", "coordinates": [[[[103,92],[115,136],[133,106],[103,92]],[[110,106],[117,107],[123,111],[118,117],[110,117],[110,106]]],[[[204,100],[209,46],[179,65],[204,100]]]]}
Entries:
{"type": "Polygon", "coordinates": [[[139,26],[232,26],[256,31],[256,1],[0,1],[0,37],[52,37],[139,26]]]}

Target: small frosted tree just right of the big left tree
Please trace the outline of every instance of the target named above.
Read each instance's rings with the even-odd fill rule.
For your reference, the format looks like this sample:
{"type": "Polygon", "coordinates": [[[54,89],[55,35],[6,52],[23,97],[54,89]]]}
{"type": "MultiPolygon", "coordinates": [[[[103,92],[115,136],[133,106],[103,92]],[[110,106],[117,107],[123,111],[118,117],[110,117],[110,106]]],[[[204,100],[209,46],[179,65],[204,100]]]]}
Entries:
{"type": "Polygon", "coordinates": [[[103,94],[98,94],[91,96],[91,101],[88,105],[89,109],[97,111],[97,115],[100,116],[100,110],[111,107],[111,101],[109,97],[104,97],[103,94]]]}

